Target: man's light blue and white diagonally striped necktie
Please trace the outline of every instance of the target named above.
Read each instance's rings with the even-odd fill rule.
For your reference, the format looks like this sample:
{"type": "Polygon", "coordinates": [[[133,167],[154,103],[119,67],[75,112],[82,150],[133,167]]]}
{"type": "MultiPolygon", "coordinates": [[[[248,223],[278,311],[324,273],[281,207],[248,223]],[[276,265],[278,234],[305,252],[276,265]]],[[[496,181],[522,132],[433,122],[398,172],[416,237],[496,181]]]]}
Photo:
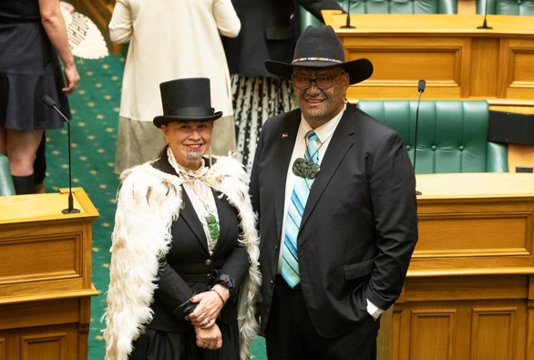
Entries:
{"type": "MultiPolygon", "coordinates": [[[[307,149],[304,159],[319,161],[317,135],[313,130],[306,134],[308,138],[307,149]]],[[[282,253],[282,277],[292,288],[301,282],[299,276],[299,262],[297,257],[297,236],[303,219],[304,207],[308,200],[313,179],[297,177],[295,180],[291,202],[287,210],[287,220],[285,221],[285,235],[283,237],[282,253]]]]}

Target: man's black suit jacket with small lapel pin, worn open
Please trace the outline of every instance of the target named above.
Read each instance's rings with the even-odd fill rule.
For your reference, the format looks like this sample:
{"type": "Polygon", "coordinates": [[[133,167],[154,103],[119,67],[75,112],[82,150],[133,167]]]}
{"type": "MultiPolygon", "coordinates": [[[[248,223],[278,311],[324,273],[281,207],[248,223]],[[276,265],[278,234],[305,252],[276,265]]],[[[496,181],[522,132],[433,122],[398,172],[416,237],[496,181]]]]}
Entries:
{"type": "MultiPolygon", "coordinates": [[[[266,121],[252,168],[252,203],[260,215],[263,330],[300,121],[299,109],[266,121]]],[[[416,180],[402,139],[347,105],[323,155],[297,239],[303,297],[317,332],[334,337],[353,330],[369,316],[365,299],[383,310],[393,304],[416,241],[416,180]]]]}

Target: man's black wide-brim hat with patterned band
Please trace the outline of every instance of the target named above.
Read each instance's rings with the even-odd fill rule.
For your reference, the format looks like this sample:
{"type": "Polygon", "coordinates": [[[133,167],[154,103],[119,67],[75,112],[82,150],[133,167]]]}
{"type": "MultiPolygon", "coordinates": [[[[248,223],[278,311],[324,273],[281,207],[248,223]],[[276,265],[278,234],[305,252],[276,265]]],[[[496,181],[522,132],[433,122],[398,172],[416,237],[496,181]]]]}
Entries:
{"type": "Polygon", "coordinates": [[[266,60],[267,70],[291,80],[294,67],[343,67],[349,83],[357,84],[373,75],[373,64],[366,58],[344,61],[344,48],[332,26],[308,26],[295,46],[293,62],[266,60]]]}

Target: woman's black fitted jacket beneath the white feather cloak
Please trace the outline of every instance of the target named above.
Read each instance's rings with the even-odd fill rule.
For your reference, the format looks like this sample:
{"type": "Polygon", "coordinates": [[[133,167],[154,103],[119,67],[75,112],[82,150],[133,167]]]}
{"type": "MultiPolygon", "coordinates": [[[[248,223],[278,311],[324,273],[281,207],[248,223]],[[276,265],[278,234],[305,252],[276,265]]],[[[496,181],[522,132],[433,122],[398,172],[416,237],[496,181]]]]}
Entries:
{"type": "MultiPolygon", "coordinates": [[[[177,175],[166,156],[152,166],[177,175]]],[[[199,216],[183,189],[182,196],[184,207],[180,209],[178,219],[172,222],[172,245],[167,256],[161,260],[158,288],[154,293],[154,303],[150,305],[154,317],[148,326],[168,332],[190,331],[191,325],[183,320],[185,314],[180,305],[187,303],[195,293],[209,290],[205,283],[186,283],[180,274],[207,274],[215,269],[221,270],[221,280],[230,281],[237,292],[250,266],[246,249],[238,243],[241,233],[238,211],[225,198],[220,198],[221,193],[215,191],[221,229],[211,256],[199,216]]],[[[237,319],[236,300],[237,296],[232,296],[221,310],[221,320],[226,324],[237,319]]]]}

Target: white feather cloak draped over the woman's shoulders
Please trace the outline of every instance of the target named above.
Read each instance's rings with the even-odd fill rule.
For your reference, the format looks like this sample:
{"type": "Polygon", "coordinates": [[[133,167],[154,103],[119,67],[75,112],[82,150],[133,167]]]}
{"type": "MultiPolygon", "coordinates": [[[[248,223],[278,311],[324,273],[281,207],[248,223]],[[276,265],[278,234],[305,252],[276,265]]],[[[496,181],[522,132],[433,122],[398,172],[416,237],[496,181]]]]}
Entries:
{"type": "MultiPolygon", "coordinates": [[[[248,195],[248,175],[241,163],[229,157],[213,158],[217,162],[206,179],[238,210],[242,229],[239,242],[247,249],[251,262],[241,285],[238,311],[240,359],[247,360],[252,339],[258,332],[255,303],[261,275],[257,219],[248,195]]],[[[106,319],[106,360],[127,360],[133,350],[132,342],[152,320],[150,303],[157,286],[154,282],[159,259],[169,252],[170,226],[183,206],[180,178],[156,170],[150,163],[123,171],[121,181],[111,235],[108,311],[102,317],[106,319]]]]}

